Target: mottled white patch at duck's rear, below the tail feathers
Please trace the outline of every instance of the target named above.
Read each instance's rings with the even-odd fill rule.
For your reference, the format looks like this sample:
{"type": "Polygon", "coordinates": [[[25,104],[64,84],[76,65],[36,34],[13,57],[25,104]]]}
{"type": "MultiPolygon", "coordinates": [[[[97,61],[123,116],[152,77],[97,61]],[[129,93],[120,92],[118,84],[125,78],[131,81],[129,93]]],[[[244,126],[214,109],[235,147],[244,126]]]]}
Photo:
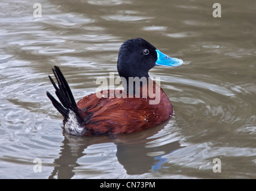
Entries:
{"type": "Polygon", "coordinates": [[[77,120],[77,115],[72,110],[69,110],[68,121],[64,125],[66,133],[71,135],[83,136],[86,133],[86,128],[81,127],[81,123],[77,120]]]}

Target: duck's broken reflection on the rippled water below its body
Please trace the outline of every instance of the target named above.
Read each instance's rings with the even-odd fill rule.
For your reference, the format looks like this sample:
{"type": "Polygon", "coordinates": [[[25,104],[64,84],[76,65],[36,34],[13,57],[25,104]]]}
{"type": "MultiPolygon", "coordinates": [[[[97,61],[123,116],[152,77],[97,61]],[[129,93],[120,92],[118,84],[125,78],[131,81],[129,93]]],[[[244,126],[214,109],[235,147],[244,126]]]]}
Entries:
{"type": "MultiPolygon", "coordinates": [[[[65,134],[60,157],[54,160],[56,167],[54,167],[49,178],[72,178],[75,175],[76,167],[93,164],[95,166],[93,169],[87,167],[89,171],[87,168],[84,170],[88,174],[87,178],[90,178],[90,174],[97,171],[95,162],[98,162],[99,165],[102,165],[102,163],[111,165],[103,160],[108,160],[106,156],[113,152],[113,149],[117,161],[126,170],[126,174],[138,175],[147,172],[158,172],[163,163],[167,161],[164,156],[181,148],[179,142],[175,140],[168,140],[167,143],[163,143],[162,141],[159,146],[154,145],[154,142],[159,141],[159,139],[152,138],[151,136],[161,131],[166,124],[144,132],[131,135],[115,135],[114,137],[104,135],[98,137],[74,137],[65,134]],[[114,147],[112,143],[114,143],[114,147]],[[93,151],[88,150],[92,146],[94,147],[93,151]],[[78,164],[78,159],[83,158],[83,156],[85,156],[84,159],[86,160],[80,161],[80,164],[78,164]]],[[[115,167],[111,165],[111,168],[115,167]]],[[[118,178],[119,176],[114,178],[118,178]]]]}

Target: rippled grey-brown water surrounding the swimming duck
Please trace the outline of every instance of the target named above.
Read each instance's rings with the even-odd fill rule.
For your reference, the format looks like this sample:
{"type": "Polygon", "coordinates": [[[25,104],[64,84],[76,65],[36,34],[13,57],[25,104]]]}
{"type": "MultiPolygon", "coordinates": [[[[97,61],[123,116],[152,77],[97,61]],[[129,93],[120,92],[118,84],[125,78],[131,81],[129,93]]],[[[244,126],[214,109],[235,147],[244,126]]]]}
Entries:
{"type": "Polygon", "coordinates": [[[256,178],[256,2],[218,2],[221,18],[215,1],[43,0],[35,18],[36,1],[2,0],[0,178],[256,178]],[[51,68],[78,101],[117,75],[118,48],[136,37],[185,61],[150,72],[173,118],[117,137],[63,134],[45,95],[51,68]]]}

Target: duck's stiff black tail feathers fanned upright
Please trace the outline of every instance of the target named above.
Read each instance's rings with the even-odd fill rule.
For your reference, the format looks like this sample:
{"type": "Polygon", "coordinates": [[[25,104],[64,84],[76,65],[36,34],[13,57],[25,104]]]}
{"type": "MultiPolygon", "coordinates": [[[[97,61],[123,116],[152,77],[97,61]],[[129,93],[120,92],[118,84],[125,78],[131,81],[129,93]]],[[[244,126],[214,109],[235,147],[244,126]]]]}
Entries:
{"type": "Polygon", "coordinates": [[[56,90],[56,96],[59,98],[61,104],[47,91],[46,94],[48,98],[50,98],[51,102],[53,103],[53,106],[64,116],[64,119],[68,118],[69,110],[72,110],[79,118],[81,118],[80,114],[78,113],[78,107],[75,103],[75,99],[69,88],[68,82],[66,81],[59,67],[54,66],[54,69],[52,70],[57,80],[58,87],[50,75],[49,78],[51,84],[53,84],[53,87],[56,90]]]}

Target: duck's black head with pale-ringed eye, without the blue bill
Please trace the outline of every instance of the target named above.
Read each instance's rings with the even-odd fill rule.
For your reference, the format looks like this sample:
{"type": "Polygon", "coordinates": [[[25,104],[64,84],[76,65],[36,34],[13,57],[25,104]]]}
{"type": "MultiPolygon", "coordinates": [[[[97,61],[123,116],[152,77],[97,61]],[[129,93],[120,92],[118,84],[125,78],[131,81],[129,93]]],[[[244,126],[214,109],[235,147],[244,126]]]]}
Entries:
{"type": "Polygon", "coordinates": [[[148,71],[156,65],[156,49],[142,38],[125,41],[120,47],[117,61],[120,77],[148,78],[148,71]]]}

